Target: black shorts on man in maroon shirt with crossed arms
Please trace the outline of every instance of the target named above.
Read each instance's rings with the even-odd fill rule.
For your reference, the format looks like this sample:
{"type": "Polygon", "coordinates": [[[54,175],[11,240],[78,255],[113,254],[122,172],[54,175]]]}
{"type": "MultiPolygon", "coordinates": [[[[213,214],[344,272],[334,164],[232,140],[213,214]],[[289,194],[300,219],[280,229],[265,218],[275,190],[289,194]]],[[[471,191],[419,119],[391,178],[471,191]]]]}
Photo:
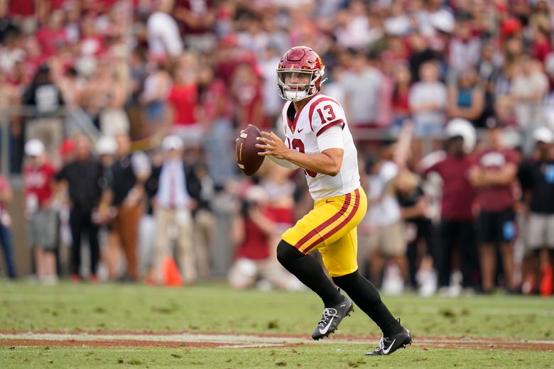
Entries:
{"type": "Polygon", "coordinates": [[[479,214],[479,241],[498,244],[512,242],[516,238],[516,215],[514,209],[481,211],[479,214]]]}

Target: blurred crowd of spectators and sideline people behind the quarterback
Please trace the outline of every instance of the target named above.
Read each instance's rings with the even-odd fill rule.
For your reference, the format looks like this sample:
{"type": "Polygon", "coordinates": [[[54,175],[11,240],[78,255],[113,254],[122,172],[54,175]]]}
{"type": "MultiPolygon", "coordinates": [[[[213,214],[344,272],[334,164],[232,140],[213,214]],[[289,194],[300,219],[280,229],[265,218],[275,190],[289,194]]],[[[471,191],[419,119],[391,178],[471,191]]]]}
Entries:
{"type": "MultiPolygon", "coordinates": [[[[502,285],[514,292],[522,284],[534,292],[543,271],[538,260],[548,275],[547,251],[554,247],[546,231],[541,241],[524,236],[551,221],[550,209],[536,207],[544,199],[533,196],[548,195],[536,181],[548,187],[552,180],[550,166],[537,163],[551,160],[539,143],[550,145],[544,132],[554,127],[553,26],[554,7],[543,0],[0,0],[0,109],[33,108],[2,114],[9,172],[23,173],[26,187],[51,186],[26,196],[27,216],[38,216],[29,220],[28,243],[54,239],[54,246],[33,249],[36,273],[60,271],[49,250],[65,243],[74,244],[68,268],[75,280],[96,278],[98,265],[112,278],[147,278],[175,243],[183,279],[207,277],[210,236],[225,211],[238,222],[228,240],[239,259],[271,258],[275,230],[302,216],[303,206],[292,204],[305,199],[305,184],[290,173],[273,178],[275,168],[245,183],[229,153],[246,123],[276,126],[278,60],[293,45],[309,45],[325,65],[323,92],[341,101],[359,140],[371,197],[360,227],[360,255],[371,255],[370,263],[360,260],[367,275],[391,292],[404,285],[455,287],[447,293],[502,285]],[[448,133],[453,119],[477,128],[477,145],[454,139],[457,128],[448,133]],[[92,141],[80,133],[83,120],[98,133],[92,141]],[[501,133],[492,138],[492,131],[501,133]],[[164,169],[171,165],[179,170],[164,169]],[[505,166],[491,182],[478,170],[505,166]],[[177,179],[168,175],[175,172],[177,179]],[[175,181],[186,191],[173,204],[175,181]],[[491,197],[487,187],[504,192],[491,197]],[[228,209],[222,198],[230,199],[228,209]],[[547,220],[527,226],[536,214],[547,220]],[[258,241],[253,228],[261,232],[258,241]],[[75,247],[81,229],[92,250],[87,268],[75,247]],[[261,243],[268,250],[249,249],[261,243]],[[191,251],[200,244],[208,246],[191,251]]],[[[0,189],[1,223],[9,229],[8,182],[0,189]]],[[[10,243],[4,228],[3,246],[10,243]]],[[[249,278],[232,268],[232,283],[258,281],[258,264],[239,264],[249,278]]],[[[151,280],[159,283],[162,270],[151,280]]]]}

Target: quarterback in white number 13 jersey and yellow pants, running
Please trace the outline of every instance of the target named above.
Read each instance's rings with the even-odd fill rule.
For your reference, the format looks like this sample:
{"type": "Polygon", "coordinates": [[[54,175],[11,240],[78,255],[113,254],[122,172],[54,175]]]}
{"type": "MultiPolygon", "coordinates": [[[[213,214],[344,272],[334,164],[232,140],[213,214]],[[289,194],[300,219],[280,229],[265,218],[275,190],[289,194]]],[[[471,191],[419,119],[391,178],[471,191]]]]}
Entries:
{"type": "Polygon", "coordinates": [[[325,304],[313,339],[332,334],[353,311],[354,301],[383,331],[379,346],[366,355],[388,355],[411,343],[411,335],[389,312],[374,285],[358,272],[356,229],[367,200],[342,106],[319,93],[324,73],[321,58],[311,48],[288,50],[277,68],[279,94],[287,101],[282,113],[285,141],[273,132],[262,132],[258,138],[257,146],[264,149],[259,155],[268,155],[284,167],[303,169],[315,200],[314,208],[283,233],[277,258],[325,304]],[[349,298],[307,255],[315,249],[332,282],[349,298]]]}

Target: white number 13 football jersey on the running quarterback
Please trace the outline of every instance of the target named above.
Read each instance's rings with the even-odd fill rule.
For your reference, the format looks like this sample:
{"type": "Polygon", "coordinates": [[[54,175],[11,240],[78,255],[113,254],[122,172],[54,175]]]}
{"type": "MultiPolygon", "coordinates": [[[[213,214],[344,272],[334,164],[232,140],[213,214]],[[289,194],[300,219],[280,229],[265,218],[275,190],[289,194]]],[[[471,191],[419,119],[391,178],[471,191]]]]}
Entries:
{"type": "Polygon", "coordinates": [[[313,199],[340,196],[357,189],[360,185],[358,153],[342,106],[331,97],[316,94],[300,111],[296,112],[294,121],[290,121],[287,116],[290,104],[292,101],[286,102],[281,114],[285,144],[289,148],[298,150],[300,153],[319,154],[321,151],[317,147],[317,136],[335,125],[342,128],[344,157],[340,172],[335,177],[331,177],[304,170],[313,199]]]}

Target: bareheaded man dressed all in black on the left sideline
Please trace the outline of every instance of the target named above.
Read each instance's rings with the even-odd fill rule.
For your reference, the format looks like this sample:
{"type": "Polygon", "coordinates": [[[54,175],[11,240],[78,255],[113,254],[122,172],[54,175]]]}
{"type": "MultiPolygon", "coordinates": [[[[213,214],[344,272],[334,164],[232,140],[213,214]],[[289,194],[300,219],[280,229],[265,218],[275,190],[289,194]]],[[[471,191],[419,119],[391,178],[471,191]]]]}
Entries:
{"type": "Polygon", "coordinates": [[[81,236],[86,231],[90,247],[90,280],[97,281],[100,256],[98,224],[92,219],[94,209],[102,196],[102,163],[90,152],[90,142],[85,136],[75,138],[75,160],[67,163],[56,175],[58,181],[67,185],[70,198],[71,277],[80,280],[81,236]]]}

